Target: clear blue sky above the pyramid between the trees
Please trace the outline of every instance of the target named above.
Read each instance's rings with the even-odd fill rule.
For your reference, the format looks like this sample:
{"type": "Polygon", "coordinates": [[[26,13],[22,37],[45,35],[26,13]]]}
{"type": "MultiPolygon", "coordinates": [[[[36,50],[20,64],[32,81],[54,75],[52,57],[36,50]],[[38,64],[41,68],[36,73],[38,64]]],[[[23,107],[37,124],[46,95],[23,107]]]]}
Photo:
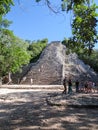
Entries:
{"type": "MultiPolygon", "coordinates": [[[[14,1],[15,6],[11,8],[6,18],[13,21],[9,29],[16,36],[31,41],[48,38],[49,42],[71,37],[71,13],[55,14],[45,4],[37,4],[32,0],[20,0],[20,3],[18,0],[14,1]]],[[[60,7],[60,1],[57,3],[57,0],[54,0],[57,8],[60,7]]],[[[98,5],[98,1],[95,2],[98,5]]]]}

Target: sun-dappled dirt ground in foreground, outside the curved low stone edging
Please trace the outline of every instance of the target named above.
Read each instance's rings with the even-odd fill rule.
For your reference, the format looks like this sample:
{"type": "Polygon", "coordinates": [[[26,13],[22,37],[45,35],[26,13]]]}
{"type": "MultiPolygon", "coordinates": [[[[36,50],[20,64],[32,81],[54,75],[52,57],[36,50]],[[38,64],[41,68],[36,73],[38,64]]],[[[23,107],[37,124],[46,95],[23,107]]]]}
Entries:
{"type": "Polygon", "coordinates": [[[0,89],[0,130],[98,130],[98,108],[50,106],[55,92],[0,89]]]}

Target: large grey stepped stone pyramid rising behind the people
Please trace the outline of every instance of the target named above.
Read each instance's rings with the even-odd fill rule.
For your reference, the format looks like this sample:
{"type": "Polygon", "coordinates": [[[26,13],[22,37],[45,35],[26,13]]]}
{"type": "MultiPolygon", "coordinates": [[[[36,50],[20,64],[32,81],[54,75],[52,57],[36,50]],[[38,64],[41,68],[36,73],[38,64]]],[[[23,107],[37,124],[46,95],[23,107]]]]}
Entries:
{"type": "Polygon", "coordinates": [[[60,42],[48,44],[39,60],[26,66],[16,81],[20,84],[60,85],[65,75],[73,81],[98,81],[98,75],[89,65],[85,65],[75,53],[67,55],[66,51],[60,42]]]}

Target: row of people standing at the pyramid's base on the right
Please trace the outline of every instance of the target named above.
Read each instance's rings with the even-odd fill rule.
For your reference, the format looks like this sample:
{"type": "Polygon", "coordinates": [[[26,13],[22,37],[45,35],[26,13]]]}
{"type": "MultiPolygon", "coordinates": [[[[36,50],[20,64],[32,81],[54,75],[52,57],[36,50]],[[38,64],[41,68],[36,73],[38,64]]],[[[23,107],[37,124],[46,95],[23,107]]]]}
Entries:
{"type": "MultiPolygon", "coordinates": [[[[76,93],[78,93],[78,92],[85,92],[85,93],[94,92],[95,93],[95,90],[97,90],[97,92],[98,92],[98,89],[96,89],[95,83],[92,81],[79,82],[79,80],[76,80],[74,82],[74,85],[75,85],[76,93]]],[[[64,91],[62,93],[65,93],[65,94],[72,93],[73,92],[72,86],[74,86],[74,85],[73,85],[71,78],[67,79],[67,77],[65,76],[63,79],[64,91]]]]}

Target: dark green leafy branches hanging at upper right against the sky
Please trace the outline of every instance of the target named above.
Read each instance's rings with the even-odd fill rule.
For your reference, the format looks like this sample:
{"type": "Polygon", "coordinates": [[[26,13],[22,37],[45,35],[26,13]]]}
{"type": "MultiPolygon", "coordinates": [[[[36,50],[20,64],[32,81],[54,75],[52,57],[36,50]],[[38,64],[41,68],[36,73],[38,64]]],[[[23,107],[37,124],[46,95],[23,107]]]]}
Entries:
{"type": "MultiPolygon", "coordinates": [[[[95,43],[98,41],[97,36],[97,6],[78,5],[74,8],[74,19],[72,23],[73,41],[81,44],[84,51],[91,55],[95,43]]],[[[79,47],[80,47],[79,46],[79,47]]]]}

